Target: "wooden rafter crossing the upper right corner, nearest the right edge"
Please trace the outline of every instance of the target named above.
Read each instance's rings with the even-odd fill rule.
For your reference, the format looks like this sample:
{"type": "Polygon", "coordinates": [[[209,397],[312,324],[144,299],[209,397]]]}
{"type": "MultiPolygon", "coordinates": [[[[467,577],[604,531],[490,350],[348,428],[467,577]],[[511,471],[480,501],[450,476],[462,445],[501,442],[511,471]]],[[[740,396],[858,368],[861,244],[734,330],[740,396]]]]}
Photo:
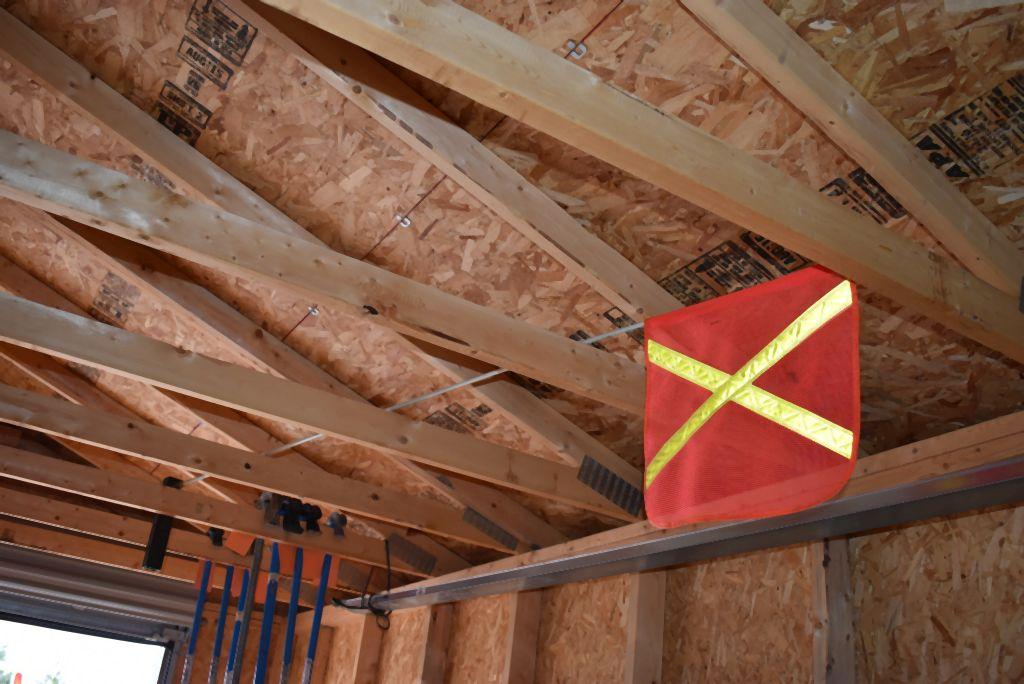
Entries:
{"type": "Polygon", "coordinates": [[[1024,257],[971,201],[763,2],[682,0],[975,275],[1016,294],[1024,257]]]}

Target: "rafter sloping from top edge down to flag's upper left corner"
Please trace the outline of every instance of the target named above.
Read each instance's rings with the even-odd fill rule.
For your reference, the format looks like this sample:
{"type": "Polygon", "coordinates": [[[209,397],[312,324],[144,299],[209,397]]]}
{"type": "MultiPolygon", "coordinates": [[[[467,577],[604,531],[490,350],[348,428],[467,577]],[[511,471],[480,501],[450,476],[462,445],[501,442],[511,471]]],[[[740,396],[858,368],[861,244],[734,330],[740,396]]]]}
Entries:
{"type": "Polygon", "coordinates": [[[226,4],[611,304],[638,320],[679,308],[650,276],[365,50],[247,1],[251,9],[241,0],[226,4]]]}

